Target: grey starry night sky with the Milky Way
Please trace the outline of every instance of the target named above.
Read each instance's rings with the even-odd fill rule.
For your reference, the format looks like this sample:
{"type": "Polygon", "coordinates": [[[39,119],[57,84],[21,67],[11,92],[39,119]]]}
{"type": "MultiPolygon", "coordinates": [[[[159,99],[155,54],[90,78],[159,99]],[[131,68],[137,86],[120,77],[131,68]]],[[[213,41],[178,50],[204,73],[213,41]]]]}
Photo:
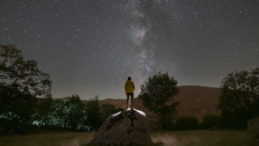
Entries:
{"type": "Polygon", "coordinates": [[[149,76],[219,87],[259,67],[258,0],[1,0],[0,44],[37,60],[53,98],[135,97],[149,76]]]}

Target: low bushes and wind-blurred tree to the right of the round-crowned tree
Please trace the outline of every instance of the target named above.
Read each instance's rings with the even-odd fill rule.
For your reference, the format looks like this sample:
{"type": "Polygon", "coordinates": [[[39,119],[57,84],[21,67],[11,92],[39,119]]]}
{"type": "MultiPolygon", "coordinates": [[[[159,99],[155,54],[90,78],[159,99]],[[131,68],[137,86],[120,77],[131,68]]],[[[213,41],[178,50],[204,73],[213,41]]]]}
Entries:
{"type": "Polygon", "coordinates": [[[221,82],[219,115],[207,115],[198,123],[195,117],[184,117],[176,122],[167,118],[169,130],[247,129],[247,122],[259,116],[259,68],[232,72],[221,82]]]}

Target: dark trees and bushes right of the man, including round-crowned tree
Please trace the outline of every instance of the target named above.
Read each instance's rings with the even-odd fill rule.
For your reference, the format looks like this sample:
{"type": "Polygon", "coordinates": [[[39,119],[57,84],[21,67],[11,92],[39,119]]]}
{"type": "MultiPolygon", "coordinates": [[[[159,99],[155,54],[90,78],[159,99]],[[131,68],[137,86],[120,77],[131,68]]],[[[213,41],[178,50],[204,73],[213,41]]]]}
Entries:
{"type": "MultiPolygon", "coordinates": [[[[183,117],[174,121],[176,106],[174,95],[179,92],[177,81],[168,73],[160,72],[141,85],[139,98],[143,105],[160,118],[159,125],[168,130],[197,130],[213,127],[246,129],[250,119],[259,116],[259,68],[232,72],[221,82],[218,115],[207,115],[199,124],[196,117],[183,117]],[[170,107],[169,101],[171,101],[170,107]],[[172,111],[172,112],[171,112],[172,111]]],[[[215,128],[214,128],[215,129],[215,128]]]]}

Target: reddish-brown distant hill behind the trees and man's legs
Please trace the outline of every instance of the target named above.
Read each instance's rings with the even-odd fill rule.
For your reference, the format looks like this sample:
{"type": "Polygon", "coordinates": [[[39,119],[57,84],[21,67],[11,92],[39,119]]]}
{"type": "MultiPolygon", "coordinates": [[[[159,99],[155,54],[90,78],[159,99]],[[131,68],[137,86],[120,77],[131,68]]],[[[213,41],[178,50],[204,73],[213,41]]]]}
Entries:
{"type": "MultiPolygon", "coordinates": [[[[177,106],[178,113],[174,116],[176,119],[181,117],[195,116],[199,121],[202,117],[210,114],[219,114],[218,100],[221,88],[204,87],[204,86],[179,86],[179,94],[174,98],[174,101],[180,101],[177,106]]],[[[88,101],[82,100],[83,103],[88,101]]],[[[115,108],[126,108],[127,99],[104,99],[99,100],[99,103],[113,104],[115,108]]],[[[134,108],[146,113],[149,120],[156,120],[157,115],[154,115],[142,105],[142,101],[138,97],[134,98],[134,108]]]]}

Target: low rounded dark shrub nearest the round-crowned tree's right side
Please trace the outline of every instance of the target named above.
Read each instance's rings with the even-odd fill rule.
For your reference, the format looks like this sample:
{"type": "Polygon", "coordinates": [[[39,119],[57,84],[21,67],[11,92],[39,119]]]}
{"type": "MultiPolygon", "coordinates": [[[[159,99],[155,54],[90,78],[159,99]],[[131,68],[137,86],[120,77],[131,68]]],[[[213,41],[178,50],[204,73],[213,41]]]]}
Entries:
{"type": "Polygon", "coordinates": [[[177,130],[197,130],[198,119],[196,117],[183,117],[176,121],[177,130]]]}

